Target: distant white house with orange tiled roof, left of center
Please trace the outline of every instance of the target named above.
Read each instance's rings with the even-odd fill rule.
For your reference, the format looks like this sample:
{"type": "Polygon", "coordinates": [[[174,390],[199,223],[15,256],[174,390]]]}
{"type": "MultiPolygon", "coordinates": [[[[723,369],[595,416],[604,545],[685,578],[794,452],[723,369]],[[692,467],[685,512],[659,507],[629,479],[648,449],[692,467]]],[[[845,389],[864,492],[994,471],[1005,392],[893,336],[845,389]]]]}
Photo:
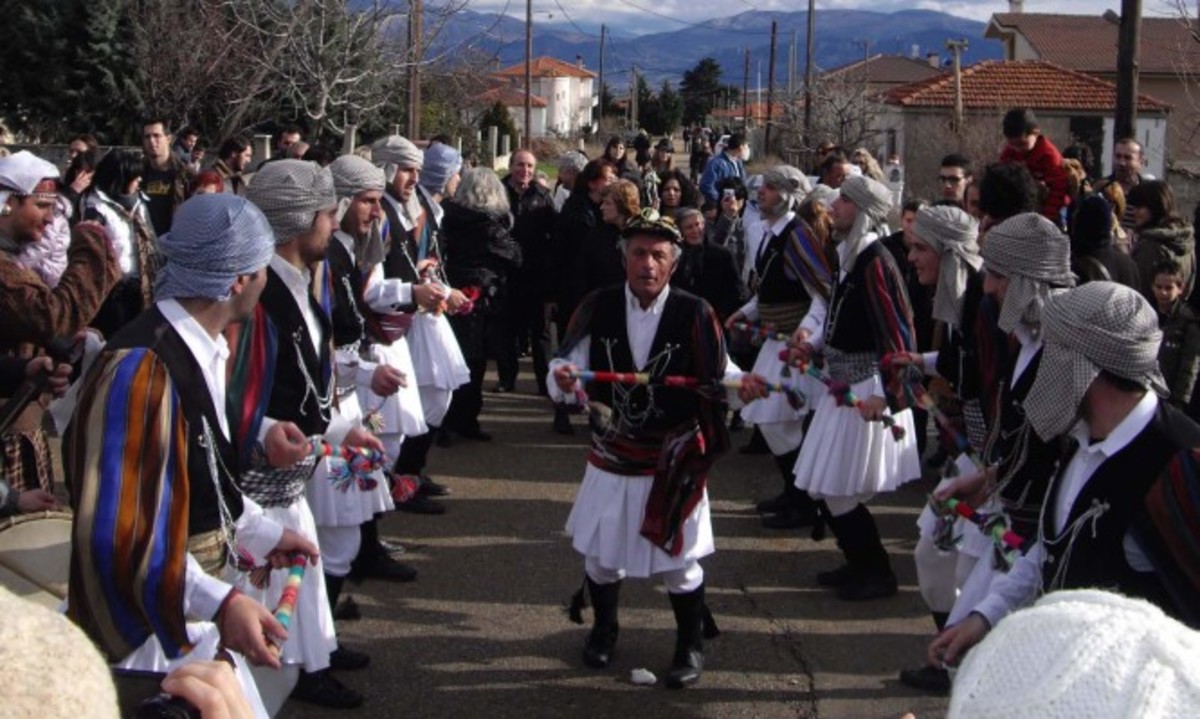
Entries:
{"type": "MultiPolygon", "coordinates": [[[[583,59],[566,62],[557,58],[534,58],[530,62],[532,92],[536,98],[530,104],[542,108],[542,121],[533,119],[532,137],[557,134],[566,137],[592,125],[593,108],[600,103],[596,92],[596,74],[583,67],[583,59]]],[[[504,88],[503,102],[509,108],[517,128],[524,133],[524,62],[492,73],[496,84],[504,88]],[[516,101],[510,104],[510,102],[516,101]]],[[[488,90],[494,91],[496,88],[488,90]]],[[[492,101],[494,103],[494,100],[492,101]]],[[[534,113],[536,114],[536,113],[534,113]]]]}

